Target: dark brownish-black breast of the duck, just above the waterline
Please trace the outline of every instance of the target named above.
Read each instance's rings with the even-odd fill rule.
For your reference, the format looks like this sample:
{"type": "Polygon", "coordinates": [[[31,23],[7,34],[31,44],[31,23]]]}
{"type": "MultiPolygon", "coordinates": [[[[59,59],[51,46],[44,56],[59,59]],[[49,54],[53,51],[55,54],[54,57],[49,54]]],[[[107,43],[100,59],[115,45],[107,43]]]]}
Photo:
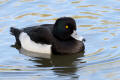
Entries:
{"type": "Polygon", "coordinates": [[[57,41],[52,46],[54,54],[74,54],[84,51],[85,46],[83,42],[77,40],[57,41]]]}

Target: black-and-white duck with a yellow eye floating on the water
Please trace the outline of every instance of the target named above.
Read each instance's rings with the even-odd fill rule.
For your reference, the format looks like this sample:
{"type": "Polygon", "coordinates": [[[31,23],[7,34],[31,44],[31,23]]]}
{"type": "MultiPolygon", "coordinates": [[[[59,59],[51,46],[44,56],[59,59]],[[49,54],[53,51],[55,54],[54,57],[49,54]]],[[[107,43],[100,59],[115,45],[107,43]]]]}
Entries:
{"type": "Polygon", "coordinates": [[[75,54],[85,50],[85,38],[78,37],[72,17],[60,17],[54,24],[41,24],[18,29],[10,28],[21,48],[47,54],[75,54]]]}

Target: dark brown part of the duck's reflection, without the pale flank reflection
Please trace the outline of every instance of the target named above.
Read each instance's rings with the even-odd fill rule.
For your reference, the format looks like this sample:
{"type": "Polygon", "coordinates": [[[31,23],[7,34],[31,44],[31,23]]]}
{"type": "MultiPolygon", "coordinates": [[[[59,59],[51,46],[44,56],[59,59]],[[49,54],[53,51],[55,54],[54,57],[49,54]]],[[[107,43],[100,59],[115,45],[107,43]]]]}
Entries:
{"type": "MultiPolygon", "coordinates": [[[[83,57],[83,53],[82,54],[76,54],[76,55],[51,55],[50,59],[44,59],[44,58],[40,58],[39,59],[35,59],[32,60],[36,63],[39,63],[41,65],[36,65],[37,67],[53,67],[53,71],[55,72],[55,74],[57,75],[74,75],[75,72],[77,71],[77,65],[75,64],[75,61],[78,60],[78,58],[83,57]]],[[[79,62],[81,60],[79,59],[79,62]]],[[[79,64],[82,64],[79,63],[79,64]]]]}

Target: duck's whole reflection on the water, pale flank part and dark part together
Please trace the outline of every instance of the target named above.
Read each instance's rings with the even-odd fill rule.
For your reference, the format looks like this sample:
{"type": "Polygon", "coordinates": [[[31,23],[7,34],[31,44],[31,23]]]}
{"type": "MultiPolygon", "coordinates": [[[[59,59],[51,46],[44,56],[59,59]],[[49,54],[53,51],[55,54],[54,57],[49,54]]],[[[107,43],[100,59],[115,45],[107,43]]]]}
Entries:
{"type": "Polygon", "coordinates": [[[73,55],[53,55],[44,53],[33,53],[22,48],[19,49],[20,53],[36,57],[31,61],[36,62],[37,67],[51,67],[55,74],[62,75],[74,75],[77,71],[77,67],[82,64],[80,57],[84,56],[84,52],[73,55]]]}

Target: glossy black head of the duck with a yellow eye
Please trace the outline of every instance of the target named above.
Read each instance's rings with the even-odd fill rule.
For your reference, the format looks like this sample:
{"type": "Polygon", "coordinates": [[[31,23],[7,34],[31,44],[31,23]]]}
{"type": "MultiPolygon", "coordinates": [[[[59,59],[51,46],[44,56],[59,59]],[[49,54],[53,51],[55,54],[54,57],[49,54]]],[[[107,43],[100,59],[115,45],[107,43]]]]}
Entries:
{"type": "Polygon", "coordinates": [[[75,20],[71,17],[62,17],[56,20],[53,34],[60,40],[68,40],[71,34],[76,30],[75,20]]]}

